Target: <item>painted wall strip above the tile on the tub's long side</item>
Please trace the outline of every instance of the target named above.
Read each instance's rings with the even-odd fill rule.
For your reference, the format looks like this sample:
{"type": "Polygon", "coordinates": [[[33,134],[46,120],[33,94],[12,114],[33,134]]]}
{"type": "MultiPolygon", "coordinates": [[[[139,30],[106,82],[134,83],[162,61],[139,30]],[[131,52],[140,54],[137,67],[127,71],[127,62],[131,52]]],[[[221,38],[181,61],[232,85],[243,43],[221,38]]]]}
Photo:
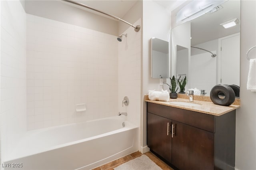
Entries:
{"type": "Polygon", "coordinates": [[[118,21],[77,7],[61,0],[25,0],[27,14],[118,36],[118,21]]]}

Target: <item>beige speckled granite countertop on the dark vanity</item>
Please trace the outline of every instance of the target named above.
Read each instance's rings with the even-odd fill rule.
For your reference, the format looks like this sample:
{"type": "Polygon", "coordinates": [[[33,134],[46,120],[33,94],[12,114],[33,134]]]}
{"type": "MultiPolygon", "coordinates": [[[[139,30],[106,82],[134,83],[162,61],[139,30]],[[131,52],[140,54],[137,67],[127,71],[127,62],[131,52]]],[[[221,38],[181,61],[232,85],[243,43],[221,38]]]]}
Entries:
{"type": "Polygon", "coordinates": [[[170,103],[170,101],[185,101],[185,102],[190,102],[190,101],[188,99],[182,99],[182,98],[169,99],[169,101],[151,101],[148,99],[147,95],[145,96],[145,101],[150,103],[156,103],[159,105],[185,109],[189,111],[206,113],[206,114],[215,115],[215,116],[224,115],[225,113],[228,113],[240,107],[240,105],[221,106],[221,105],[215,105],[212,102],[198,101],[198,100],[194,100],[193,103],[199,104],[199,106],[178,105],[178,104],[170,103]]]}

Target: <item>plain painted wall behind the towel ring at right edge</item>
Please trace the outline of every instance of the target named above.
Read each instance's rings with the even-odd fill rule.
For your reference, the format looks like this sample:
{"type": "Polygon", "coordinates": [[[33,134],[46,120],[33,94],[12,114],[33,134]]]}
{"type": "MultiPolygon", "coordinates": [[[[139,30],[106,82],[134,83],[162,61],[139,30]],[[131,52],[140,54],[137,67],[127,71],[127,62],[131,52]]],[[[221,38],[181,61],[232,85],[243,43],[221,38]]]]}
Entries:
{"type": "MultiPolygon", "coordinates": [[[[241,1],[240,31],[240,99],[241,108],[236,110],[236,169],[256,169],[256,93],[246,89],[249,61],[248,49],[256,45],[256,1],[241,1]]],[[[256,49],[250,51],[256,57],[256,49]]]]}

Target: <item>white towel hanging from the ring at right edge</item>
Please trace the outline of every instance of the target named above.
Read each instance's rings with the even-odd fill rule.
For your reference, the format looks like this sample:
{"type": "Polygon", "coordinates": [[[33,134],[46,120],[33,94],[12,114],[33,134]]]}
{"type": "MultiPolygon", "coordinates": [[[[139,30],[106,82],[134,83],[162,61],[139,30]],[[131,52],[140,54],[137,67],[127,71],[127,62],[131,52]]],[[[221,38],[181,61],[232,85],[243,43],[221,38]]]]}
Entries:
{"type": "Polygon", "coordinates": [[[247,89],[251,91],[256,91],[256,59],[250,59],[247,89]]]}

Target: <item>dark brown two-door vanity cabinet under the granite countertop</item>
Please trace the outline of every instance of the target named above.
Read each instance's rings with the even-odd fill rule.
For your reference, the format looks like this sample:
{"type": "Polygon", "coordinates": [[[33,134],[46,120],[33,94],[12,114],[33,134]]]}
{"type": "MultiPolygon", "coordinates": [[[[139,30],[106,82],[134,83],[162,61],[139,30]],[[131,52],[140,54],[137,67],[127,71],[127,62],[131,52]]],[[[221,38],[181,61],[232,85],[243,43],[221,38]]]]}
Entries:
{"type": "Polygon", "coordinates": [[[150,151],[180,170],[234,170],[235,111],[221,116],[147,103],[150,151]]]}

